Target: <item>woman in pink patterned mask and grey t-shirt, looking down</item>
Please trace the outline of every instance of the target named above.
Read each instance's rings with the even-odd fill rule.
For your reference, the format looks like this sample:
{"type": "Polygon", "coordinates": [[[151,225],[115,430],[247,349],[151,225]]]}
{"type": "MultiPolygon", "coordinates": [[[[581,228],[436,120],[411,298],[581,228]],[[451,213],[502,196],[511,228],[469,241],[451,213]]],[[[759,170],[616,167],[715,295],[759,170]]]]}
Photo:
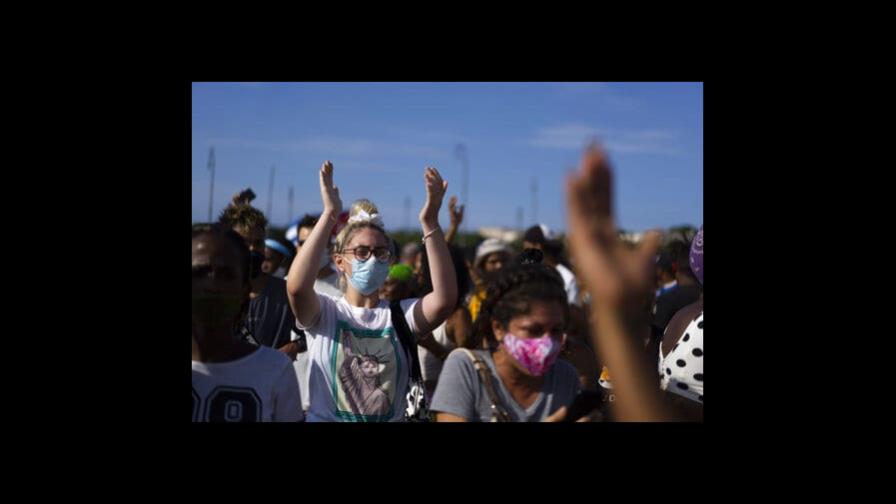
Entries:
{"type": "Polygon", "coordinates": [[[445,361],[430,409],[439,422],[560,420],[579,392],[575,368],[557,360],[569,306],[563,280],[542,264],[502,269],[473,338],[445,361]]]}

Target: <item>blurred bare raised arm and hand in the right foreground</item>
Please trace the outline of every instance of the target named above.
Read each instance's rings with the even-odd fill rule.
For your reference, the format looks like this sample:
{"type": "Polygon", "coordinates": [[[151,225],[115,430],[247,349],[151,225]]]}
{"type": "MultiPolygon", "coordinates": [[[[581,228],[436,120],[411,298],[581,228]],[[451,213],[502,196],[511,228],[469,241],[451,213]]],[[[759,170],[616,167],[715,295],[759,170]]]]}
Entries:
{"type": "Polygon", "coordinates": [[[639,343],[649,331],[643,299],[660,236],[650,232],[637,250],[618,243],[612,212],[609,161],[597,145],[582,157],[566,184],[570,249],[591,292],[592,333],[597,353],[613,374],[614,412],[622,421],[670,418],[656,373],[639,343]]]}

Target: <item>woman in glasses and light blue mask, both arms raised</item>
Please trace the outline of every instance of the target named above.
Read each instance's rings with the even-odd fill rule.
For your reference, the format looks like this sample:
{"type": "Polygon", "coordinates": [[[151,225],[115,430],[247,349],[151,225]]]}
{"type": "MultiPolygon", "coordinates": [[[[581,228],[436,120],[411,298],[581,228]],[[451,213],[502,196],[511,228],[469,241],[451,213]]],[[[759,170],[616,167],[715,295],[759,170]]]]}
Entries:
{"type": "MultiPolygon", "coordinates": [[[[333,183],[333,165],[321,166],[320,191],[324,210],[299,250],[287,275],[287,291],[296,325],[308,335],[308,421],[370,422],[403,421],[409,389],[411,355],[392,325],[389,302],[379,292],[389,273],[391,250],[379,211],[369,200],[358,200],[351,208],[348,224],[339,232],[333,247],[333,262],[342,275],[345,291],[335,299],[314,292],[320,256],[336,216],[342,211],[339,189],[333,183]],[[348,347],[348,348],[346,348],[348,347]],[[356,359],[343,367],[346,359],[356,359]],[[373,363],[376,365],[373,365],[373,363]],[[364,373],[346,373],[352,364],[363,365],[364,373]],[[348,384],[346,380],[363,379],[348,384]],[[357,401],[353,391],[368,390],[388,401],[357,401]],[[381,392],[381,393],[380,393],[381,392]],[[375,407],[374,407],[375,403],[375,407]],[[384,407],[388,405],[388,408],[384,407]],[[368,407],[369,406],[369,407],[368,407]]],[[[423,241],[430,257],[433,291],[422,298],[400,302],[411,333],[427,334],[453,311],[457,298],[454,269],[438,213],[448,183],[438,170],[424,170],[426,203],[420,211],[423,241]]],[[[357,367],[357,366],[355,366],[357,367]]]]}

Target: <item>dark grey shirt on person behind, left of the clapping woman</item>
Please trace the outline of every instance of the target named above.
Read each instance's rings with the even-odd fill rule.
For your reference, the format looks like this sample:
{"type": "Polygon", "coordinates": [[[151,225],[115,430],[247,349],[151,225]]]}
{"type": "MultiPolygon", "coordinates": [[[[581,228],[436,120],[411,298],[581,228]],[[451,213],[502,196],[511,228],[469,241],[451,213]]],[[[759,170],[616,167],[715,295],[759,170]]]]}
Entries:
{"type": "Polygon", "coordinates": [[[261,295],[249,302],[246,328],[260,345],[277,349],[289,343],[295,325],[296,318],[286,294],[286,280],[268,278],[261,295]]]}

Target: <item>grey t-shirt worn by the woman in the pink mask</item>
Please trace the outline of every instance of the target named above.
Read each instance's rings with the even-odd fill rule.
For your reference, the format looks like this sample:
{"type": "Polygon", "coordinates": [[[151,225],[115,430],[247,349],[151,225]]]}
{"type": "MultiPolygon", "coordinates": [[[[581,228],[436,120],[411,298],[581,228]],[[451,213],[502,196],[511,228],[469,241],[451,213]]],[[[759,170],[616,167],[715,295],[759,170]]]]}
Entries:
{"type": "MultiPolygon", "coordinates": [[[[545,373],[544,387],[538,398],[531,406],[523,408],[498,378],[491,352],[473,350],[473,353],[488,365],[498,399],[514,421],[540,422],[562,406],[569,406],[579,393],[579,377],[575,368],[558,359],[545,373]]],[[[445,360],[430,409],[457,415],[471,422],[491,421],[491,401],[485,384],[481,383],[473,361],[464,351],[455,350],[445,360]]]]}

